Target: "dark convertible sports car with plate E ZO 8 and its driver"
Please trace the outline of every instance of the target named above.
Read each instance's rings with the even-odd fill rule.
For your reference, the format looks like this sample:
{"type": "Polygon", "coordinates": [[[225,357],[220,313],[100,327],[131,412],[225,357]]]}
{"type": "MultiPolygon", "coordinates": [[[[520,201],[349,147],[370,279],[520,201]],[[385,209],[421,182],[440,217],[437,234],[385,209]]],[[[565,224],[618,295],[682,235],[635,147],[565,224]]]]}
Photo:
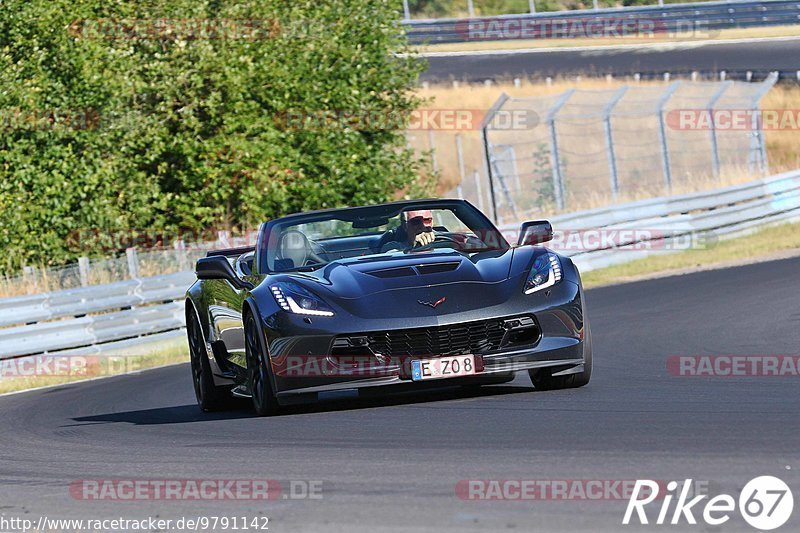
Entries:
{"type": "Polygon", "coordinates": [[[321,393],[479,386],[527,371],[537,389],[580,387],[592,342],[578,270],[510,245],[464,200],[301,213],[261,225],[255,247],[197,262],[186,298],[203,410],[252,398],[259,415],[321,393]]]}

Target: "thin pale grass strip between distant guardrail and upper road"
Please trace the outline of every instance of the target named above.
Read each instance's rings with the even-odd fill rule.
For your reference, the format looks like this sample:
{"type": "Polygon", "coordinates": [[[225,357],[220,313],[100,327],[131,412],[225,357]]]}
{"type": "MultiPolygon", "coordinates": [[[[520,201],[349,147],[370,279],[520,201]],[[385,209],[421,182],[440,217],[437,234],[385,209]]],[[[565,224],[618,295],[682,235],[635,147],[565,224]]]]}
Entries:
{"type": "Polygon", "coordinates": [[[718,41],[723,39],[751,39],[769,37],[797,37],[797,26],[767,26],[762,28],[730,28],[703,31],[697,34],[654,34],[645,37],[604,37],[574,39],[506,39],[501,41],[470,41],[466,43],[430,44],[417,47],[427,52],[477,52],[482,50],[521,50],[536,48],[575,48],[585,46],[642,45],[658,43],[687,43],[718,41]]]}

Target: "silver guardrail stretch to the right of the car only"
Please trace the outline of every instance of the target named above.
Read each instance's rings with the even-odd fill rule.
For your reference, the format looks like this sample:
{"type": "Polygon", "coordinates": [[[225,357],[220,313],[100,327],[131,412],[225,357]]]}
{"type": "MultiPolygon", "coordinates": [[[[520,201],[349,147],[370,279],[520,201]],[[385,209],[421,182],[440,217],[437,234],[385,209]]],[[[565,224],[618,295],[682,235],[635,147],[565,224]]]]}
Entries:
{"type": "MultiPolygon", "coordinates": [[[[796,219],[800,219],[800,171],[550,220],[559,237],[555,242],[561,243],[554,246],[556,251],[588,272],[649,255],[713,246],[714,239],[721,236],[796,219]],[[587,246],[587,232],[601,235],[592,235],[593,242],[587,246]]],[[[506,224],[501,229],[515,235],[518,228],[506,224]]]]}

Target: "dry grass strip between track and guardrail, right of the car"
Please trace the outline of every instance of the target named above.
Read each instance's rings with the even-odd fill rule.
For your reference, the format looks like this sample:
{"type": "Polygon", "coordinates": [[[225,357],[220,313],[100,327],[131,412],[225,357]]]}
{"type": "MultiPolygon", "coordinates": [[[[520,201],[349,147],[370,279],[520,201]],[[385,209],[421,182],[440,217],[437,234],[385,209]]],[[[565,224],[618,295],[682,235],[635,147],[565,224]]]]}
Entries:
{"type": "Polygon", "coordinates": [[[791,251],[800,253],[800,223],[761,229],[748,236],[719,241],[715,246],[703,250],[645,257],[630,263],[592,270],[581,277],[585,287],[600,287],[656,275],[735,266],[791,251]]]}

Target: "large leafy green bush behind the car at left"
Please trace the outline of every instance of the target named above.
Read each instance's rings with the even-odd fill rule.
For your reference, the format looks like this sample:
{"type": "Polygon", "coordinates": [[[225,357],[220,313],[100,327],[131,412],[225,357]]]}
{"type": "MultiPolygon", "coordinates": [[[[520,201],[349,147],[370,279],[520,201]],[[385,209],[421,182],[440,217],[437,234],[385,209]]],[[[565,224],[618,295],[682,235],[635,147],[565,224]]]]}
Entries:
{"type": "Polygon", "coordinates": [[[0,270],[99,254],[132,228],[235,231],[419,194],[426,163],[401,130],[281,120],[407,116],[423,66],[403,51],[394,2],[5,0],[0,270]],[[223,23],[249,37],[202,33],[223,23]]]}

